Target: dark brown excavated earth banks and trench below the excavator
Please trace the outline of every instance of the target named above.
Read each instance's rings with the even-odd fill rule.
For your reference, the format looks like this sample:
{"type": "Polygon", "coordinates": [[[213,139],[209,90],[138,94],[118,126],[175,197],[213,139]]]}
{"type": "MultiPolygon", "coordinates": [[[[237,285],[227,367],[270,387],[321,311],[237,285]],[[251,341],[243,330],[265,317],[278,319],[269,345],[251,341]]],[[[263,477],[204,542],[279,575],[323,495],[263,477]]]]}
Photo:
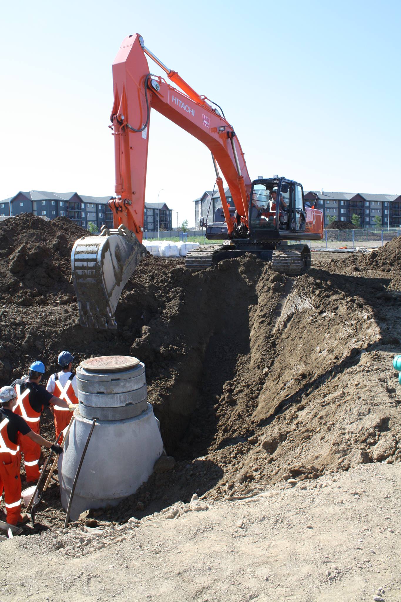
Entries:
{"type": "MultiPolygon", "coordinates": [[[[97,520],[140,517],[194,492],[233,498],[289,477],[399,461],[393,243],[370,262],[325,259],[298,278],[251,255],[198,273],[180,259],[148,257],[121,296],[117,332],[107,332],[78,323],[69,253],[79,229],[20,216],[0,230],[7,222],[1,384],[36,358],[51,373],[64,348],[76,361],[134,355],[145,362],[148,399],[176,458],[173,470],[153,474],[97,520]]],[[[43,434],[53,436],[50,417],[43,434]]],[[[61,526],[55,483],[45,507],[39,523],[61,526]]]]}

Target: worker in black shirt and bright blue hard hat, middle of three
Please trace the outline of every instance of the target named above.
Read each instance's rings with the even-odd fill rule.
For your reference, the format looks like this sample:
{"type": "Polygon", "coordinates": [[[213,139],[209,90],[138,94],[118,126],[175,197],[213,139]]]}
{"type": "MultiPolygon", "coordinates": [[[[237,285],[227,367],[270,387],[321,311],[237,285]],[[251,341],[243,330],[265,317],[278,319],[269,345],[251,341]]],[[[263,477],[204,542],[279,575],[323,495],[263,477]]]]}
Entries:
{"type": "MultiPolygon", "coordinates": [[[[44,374],[43,362],[35,361],[29,366],[28,379],[17,379],[11,383],[17,393],[14,413],[22,416],[34,433],[40,433],[40,417],[46,406],[61,406],[73,412],[75,405],[48,393],[41,386],[40,379],[44,374]]],[[[25,463],[26,485],[32,485],[39,478],[40,445],[31,437],[23,435],[20,441],[23,461],[25,463]]]]}

